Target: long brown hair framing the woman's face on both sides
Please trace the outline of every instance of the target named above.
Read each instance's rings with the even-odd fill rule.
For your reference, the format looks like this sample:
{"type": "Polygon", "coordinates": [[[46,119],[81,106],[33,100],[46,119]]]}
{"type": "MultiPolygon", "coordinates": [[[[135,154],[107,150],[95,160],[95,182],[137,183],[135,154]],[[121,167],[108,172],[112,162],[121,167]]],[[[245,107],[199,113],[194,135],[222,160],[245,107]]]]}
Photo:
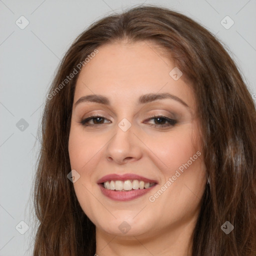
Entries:
{"type": "Polygon", "coordinates": [[[71,110],[80,71],[77,64],[85,65],[82,61],[99,46],[122,39],[153,40],[166,49],[196,97],[210,183],[193,232],[192,255],[255,256],[255,104],[234,61],[213,34],[181,13],[153,5],[133,7],[93,23],[75,39],[58,67],[41,120],[33,255],[95,253],[95,226],[67,178],[71,110]],[[74,68],[78,74],[65,80],[74,68]],[[234,226],[229,234],[221,229],[225,221],[234,226]]]}

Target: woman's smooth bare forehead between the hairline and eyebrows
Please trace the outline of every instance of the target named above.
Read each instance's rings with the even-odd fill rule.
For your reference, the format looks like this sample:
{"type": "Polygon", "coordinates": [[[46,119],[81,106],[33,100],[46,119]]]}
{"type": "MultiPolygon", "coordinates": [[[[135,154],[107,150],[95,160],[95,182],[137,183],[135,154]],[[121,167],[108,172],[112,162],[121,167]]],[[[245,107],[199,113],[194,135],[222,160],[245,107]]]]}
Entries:
{"type": "Polygon", "coordinates": [[[168,92],[194,105],[190,86],[182,76],[169,74],[175,67],[169,55],[152,41],[119,41],[97,48],[98,53],[81,69],[74,102],[87,94],[103,94],[110,101],[136,101],[146,93],[168,92]]]}

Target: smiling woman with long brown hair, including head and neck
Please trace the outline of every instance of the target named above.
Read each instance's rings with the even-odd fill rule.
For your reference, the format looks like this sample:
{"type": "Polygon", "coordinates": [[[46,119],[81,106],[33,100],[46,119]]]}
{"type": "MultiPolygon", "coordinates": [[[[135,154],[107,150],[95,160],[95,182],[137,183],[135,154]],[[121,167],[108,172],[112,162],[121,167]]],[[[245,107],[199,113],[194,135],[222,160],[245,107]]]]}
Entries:
{"type": "Polygon", "coordinates": [[[42,118],[34,255],[256,255],[256,111],[223,46],[139,6],[92,24],[42,118]]]}

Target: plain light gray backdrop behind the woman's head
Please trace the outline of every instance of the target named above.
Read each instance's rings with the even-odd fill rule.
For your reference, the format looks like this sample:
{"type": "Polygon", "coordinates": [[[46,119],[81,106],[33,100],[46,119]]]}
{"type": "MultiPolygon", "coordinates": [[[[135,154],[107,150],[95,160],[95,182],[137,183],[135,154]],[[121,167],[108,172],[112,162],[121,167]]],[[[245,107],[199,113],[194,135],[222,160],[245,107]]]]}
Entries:
{"type": "Polygon", "coordinates": [[[181,11],[216,34],[256,99],[255,0],[0,0],[0,256],[32,254],[37,127],[60,59],[89,24],[143,2],[181,11]],[[15,23],[24,24],[21,15],[24,29],[15,23]],[[221,24],[227,15],[229,29],[221,24]]]}

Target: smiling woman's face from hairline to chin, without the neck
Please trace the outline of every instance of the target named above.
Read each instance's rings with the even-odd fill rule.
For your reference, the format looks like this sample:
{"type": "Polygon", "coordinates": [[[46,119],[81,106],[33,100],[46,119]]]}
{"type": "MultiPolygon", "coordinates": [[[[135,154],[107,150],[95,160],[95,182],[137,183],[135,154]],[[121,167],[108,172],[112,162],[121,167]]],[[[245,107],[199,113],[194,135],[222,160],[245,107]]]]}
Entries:
{"type": "Polygon", "coordinates": [[[79,74],[68,150],[97,232],[148,237],[195,224],[206,182],[196,102],[166,56],[149,41],[105,44],[79,74]]]}

